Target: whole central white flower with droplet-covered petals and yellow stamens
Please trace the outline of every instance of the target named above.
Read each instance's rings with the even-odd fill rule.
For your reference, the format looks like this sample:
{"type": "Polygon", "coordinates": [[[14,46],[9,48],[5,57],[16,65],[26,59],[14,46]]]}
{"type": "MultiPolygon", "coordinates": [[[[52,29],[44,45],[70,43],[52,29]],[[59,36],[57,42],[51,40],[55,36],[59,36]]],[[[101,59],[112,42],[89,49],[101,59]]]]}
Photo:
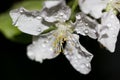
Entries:
{"type": "Polygon", "coordinates": [[[96,22],[78,13],[76,22],[70,23],[68,20],[71,9],[65,1],[50,1],[50,3],[52,5],[48,5],[49,1],[45,2],[42,11],[28,11],[20,8],[10,12],[13,24],[18,26],[18,29],[34,35],[33,43],[27,48],[28,57],[42,62],[63,52],[77,71],[82,74],[89,73],[93,55],[80,44],[79,36],[74,34],[74,31],[96,39],[96,22]],[[56,29],[43,34],[44,30],[49,29],[50,26],[56,26],[56,29]],[[63,46],[65,43],[66,45],[63,46]]]}

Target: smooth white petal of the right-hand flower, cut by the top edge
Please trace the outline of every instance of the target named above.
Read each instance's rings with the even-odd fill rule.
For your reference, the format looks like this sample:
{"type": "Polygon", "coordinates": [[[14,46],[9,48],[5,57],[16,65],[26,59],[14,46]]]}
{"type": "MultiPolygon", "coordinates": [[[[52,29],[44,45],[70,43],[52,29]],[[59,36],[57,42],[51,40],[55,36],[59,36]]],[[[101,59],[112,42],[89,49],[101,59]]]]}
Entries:
{"type": "Polygon", "coordinates": [[[100,18],[108,2],[109,0],[79,0],[79,6],[84,13],[100,18]]]}

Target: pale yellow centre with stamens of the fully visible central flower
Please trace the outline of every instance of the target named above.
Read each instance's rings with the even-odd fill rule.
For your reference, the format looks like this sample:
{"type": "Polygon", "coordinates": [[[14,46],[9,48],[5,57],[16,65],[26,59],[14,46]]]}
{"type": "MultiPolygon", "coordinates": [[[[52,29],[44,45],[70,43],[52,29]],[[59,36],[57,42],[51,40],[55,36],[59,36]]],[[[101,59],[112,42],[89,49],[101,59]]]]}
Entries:
{"type": "Polygon", "coordinates": [[[53,33],[55,36],[55,41],[53,42],[53,48],[55,53],[60,53],[63,51],[63,44],[68,40],[68,36],[72,34],[71,25],[66,23],[57,23],[57,30],[53,33]]]}

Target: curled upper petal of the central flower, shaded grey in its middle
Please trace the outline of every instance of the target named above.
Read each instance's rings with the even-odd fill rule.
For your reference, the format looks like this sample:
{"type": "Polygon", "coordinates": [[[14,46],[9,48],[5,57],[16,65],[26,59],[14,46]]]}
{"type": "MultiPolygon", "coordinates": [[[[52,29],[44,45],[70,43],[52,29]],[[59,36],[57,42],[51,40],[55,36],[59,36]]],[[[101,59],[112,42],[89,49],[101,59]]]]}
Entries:
{"type": "MultiPolygon", "coordinates": [[[[54,3],[54,1],[51,2],[54,3]]],[[[54,7],[44,7],[42,11],[42,17],[48,22],[65,22],[70,18],[70,15],[71,9],[66,5],[65,0],[61,1],[54,7]]]]}

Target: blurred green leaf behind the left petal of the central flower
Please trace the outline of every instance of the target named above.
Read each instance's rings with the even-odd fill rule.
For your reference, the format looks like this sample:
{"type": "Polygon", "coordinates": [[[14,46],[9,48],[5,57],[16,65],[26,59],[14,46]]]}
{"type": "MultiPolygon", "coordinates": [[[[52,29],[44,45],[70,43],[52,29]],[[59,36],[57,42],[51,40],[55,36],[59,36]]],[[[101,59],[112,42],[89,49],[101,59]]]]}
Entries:
{"type": "MultiPolygon", "coordinates": [[[[10,9],[16,9],[24,7],[28,10],[40,10],[42,8],[44,0],[24,0],[22,2],[16,3],[10,9]]],[[[24,34],[20,32],[17,27],[12,25],[12,20],[9,15],[9,11],[0,14],[0,32],[9,40],[20,42],[20,43],[29,43],[31,42],[31,35],[24,34]]]]}

